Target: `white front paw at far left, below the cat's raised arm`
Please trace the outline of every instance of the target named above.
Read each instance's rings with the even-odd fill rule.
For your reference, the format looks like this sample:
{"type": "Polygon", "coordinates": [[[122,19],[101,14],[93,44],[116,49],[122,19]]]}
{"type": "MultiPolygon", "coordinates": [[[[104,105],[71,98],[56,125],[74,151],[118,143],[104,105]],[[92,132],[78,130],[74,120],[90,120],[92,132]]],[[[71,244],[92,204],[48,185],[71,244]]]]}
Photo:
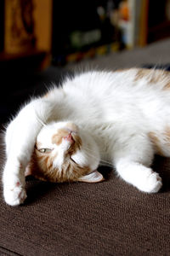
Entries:
{"type": "Polygon", "coordinates": [[[14,187],[7,187],[3,189],[3,195],[6,203],[9,206],[19,206],[26,200],[26,189],[17,182],[14,187]]]}

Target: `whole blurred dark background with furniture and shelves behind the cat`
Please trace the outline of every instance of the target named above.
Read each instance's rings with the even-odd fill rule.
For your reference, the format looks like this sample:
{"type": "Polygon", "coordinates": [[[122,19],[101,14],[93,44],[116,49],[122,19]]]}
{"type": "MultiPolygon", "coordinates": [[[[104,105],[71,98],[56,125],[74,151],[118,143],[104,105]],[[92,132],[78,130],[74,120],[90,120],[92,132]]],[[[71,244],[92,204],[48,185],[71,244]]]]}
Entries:
{"type": "Polygon", "coordinates": [[[170,69],[170,0],[1,0],[0,123],[79,67],[170,69]]]}

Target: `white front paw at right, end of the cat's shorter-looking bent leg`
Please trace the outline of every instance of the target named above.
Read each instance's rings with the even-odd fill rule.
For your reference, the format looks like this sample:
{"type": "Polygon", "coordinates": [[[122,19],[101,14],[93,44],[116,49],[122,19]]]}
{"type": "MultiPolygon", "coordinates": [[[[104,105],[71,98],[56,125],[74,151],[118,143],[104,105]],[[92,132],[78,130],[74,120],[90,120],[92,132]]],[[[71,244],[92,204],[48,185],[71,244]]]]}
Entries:
{"type": "Polygon", "coordinates": [[[140,188],[147,193],[156,193],[161,189],[161,177],[156,172],[151,172],[143,181],[143,186],[140,188]]]}

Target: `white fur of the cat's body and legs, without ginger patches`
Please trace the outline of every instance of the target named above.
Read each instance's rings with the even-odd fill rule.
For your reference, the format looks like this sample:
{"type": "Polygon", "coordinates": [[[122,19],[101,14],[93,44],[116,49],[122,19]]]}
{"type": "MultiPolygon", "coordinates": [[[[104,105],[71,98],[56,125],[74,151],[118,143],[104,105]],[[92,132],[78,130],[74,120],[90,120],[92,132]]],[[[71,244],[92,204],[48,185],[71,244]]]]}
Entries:
{"type": "MultiPolygon", "coordinates": [[[[137,72],[78,74],[66,79],[62,88],[49,90],[48,96],[21,109],[8,125],[5,138],[3,195],[9,205],[19,205],[26,199],[24,172],[41,129],[47,132],[45,143],[49,143],[53,129],[50,125],[42,128],[42,123],[52,121],[71,120],[80,132],[82,127],[86,153],[75,155],[80,164],[88,160],[95,169],[100,159],[115,166],[120,177],[141,191],[151,193],[161,188],[161,178],[150,169],[155,152],[148,133],[159,134],[170,126],[170,90],[161,90],[163,82],[151,84],[146,78],[136,81],[137,72]]],[[[170,155],[170,148],[163,150],[170,155]]]]}

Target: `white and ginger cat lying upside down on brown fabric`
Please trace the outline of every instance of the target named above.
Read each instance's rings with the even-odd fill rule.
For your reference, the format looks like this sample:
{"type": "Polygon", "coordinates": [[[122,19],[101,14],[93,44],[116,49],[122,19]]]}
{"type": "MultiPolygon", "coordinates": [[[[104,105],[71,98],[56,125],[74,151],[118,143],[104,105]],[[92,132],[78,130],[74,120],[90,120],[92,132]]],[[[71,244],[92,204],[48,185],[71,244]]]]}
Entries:
{"type": "Polygon", "coordinates": [[[3,195],[26,200],[26,174],[51,182],[104,180],[100,164],[124,181],[156,193],[154,154],[170,156],[170,73],[131,68],[88,71],[28,102],[9,122],[3,195]]]}

